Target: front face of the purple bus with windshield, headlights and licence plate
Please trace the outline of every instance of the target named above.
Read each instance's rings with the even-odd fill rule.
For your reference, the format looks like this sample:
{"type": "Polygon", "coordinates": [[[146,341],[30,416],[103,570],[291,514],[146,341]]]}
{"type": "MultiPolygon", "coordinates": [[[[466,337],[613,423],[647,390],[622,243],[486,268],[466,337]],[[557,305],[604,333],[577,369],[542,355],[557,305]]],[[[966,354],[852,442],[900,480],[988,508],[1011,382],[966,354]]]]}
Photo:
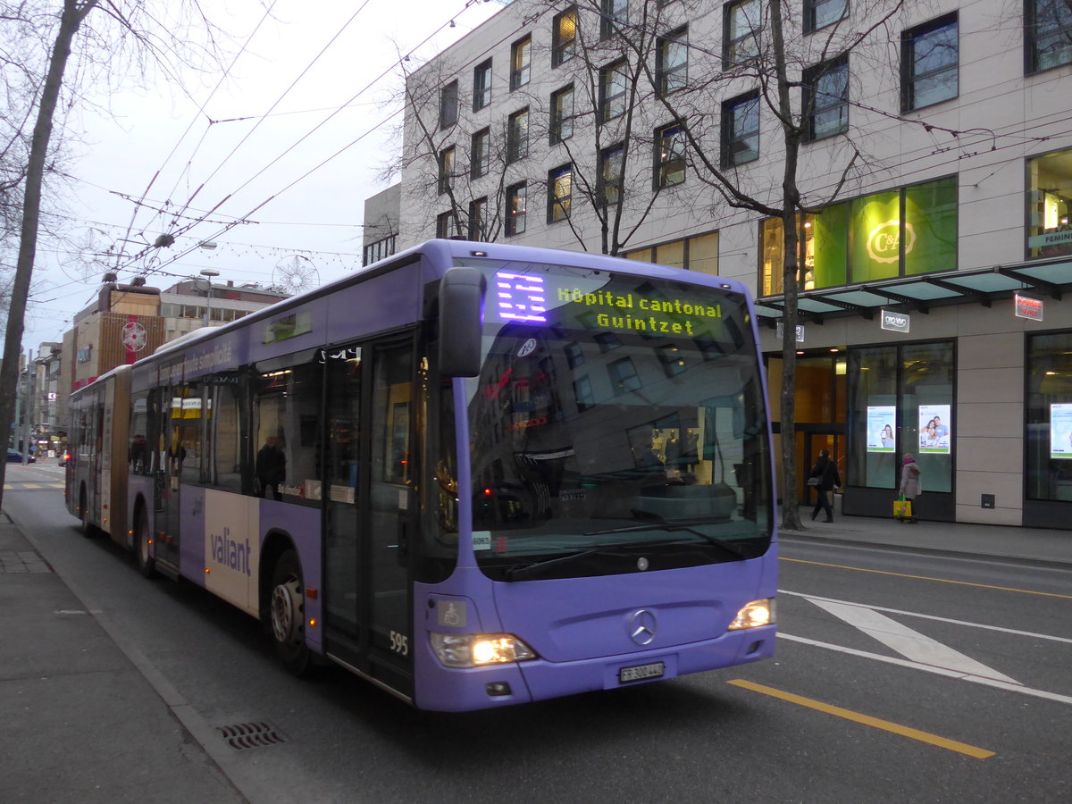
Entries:
{"type": "Polygon", "coordinates": [[[488,285],[481,364],[453,381],[457,569],[415,591],[417,705],[771,656],[770,430],[743,292],[651,266],[460,262],[488,285]]]}

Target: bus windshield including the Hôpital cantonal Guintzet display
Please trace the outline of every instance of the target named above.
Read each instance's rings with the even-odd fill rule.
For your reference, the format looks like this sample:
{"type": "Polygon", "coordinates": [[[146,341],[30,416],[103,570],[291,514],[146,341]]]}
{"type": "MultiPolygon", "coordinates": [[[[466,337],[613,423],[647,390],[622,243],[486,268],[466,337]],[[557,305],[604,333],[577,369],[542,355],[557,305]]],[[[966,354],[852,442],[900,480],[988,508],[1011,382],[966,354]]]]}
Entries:
{"type": "Polygon", "coordinates": [[[744,561],[771,542],[769,444],[743,295],[473,260],[473,545],[494,580],[744,561]]]}

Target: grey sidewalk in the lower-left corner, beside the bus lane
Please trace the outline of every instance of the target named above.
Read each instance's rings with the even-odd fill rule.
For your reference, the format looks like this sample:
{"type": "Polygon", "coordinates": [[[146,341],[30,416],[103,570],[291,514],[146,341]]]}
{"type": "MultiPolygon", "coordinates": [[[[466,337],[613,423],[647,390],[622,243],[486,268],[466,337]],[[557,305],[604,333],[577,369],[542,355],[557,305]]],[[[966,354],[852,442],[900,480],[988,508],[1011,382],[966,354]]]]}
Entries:
{"type": "Polygon", "coordinates": [[[0,801],[244,801],[91,606],[0,511],[0,801]]]}

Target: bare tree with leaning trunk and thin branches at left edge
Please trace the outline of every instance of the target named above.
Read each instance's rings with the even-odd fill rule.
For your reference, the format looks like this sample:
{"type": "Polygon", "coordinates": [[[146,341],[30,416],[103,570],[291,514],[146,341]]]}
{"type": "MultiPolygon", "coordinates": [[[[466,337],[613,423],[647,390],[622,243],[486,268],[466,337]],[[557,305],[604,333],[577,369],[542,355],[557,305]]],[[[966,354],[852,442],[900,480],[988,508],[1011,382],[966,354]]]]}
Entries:
{"type": "MultiPolygon", "coordinates": [[[[5,328],[3,362],[0,364],[0,433],[5,435],[11,431],[14,414],[24,316],[36,257],[42,195],[54,151],[54,129],[58,117],[62,122],[64,106],[61,106],[61,101],[70,107],[84,98],[77,92],[71,92],[69,101],[63,98],[72,55],[74,66],[83,79],[88,79],[98,70],[120,70],[128,63],[143,71],[153,64],[168,77],[175,77],[179,65],[202,66],[206,57],[211,59],[215,50],[214,29],[197,2],[184,4],[182,9],[182,13],[188,15],[185,21],[197,27],[200,34],[197,36],[189,35],[189,25],[162,25],[160,10],[153,9],[150,0],[57,0],[56,4],[58,8],[47,0],[27,0],[17,4],[5,3],[0,11],[0,21],[10,38],[27,36],[29,32],[42,29],[51,32],[50,40],[41,40],[48,43],[46,53],[39,54],[41,61],[47,62],[47,68],[44,75],[33,76],[40,89],[25,107],[25,119],[32,119],[33,128],[25,166],[15,184],[21,189],[18,256],[5,328]],[[90,15],[93,26],[86,25],[90,15]]],[[[36,41],[36,38],[29,36],[29,41],[36,41]]],[[[8,65],[4,66],[6,74],[8,65]]],[[[34,68],[32,62],[19,62],[19,69],[32,76],[34,68]]],[[[21,130],[17,126],[17,131],[21,130]]],[[[0,465],[0,502],[3,498],[4,473],[5,466],[0,465]]]]}

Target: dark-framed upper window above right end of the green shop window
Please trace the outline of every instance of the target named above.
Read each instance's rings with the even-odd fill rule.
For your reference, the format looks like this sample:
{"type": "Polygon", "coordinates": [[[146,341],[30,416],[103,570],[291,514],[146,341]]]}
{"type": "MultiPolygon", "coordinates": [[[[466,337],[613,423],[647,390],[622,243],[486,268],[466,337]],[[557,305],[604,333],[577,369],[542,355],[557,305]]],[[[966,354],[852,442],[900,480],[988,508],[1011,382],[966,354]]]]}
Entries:
{"type": "Polygon", "coordinates": [[[905,31],[900,40],[903,111],[956,98],[958,50],[956,14],[905,31]]]}

